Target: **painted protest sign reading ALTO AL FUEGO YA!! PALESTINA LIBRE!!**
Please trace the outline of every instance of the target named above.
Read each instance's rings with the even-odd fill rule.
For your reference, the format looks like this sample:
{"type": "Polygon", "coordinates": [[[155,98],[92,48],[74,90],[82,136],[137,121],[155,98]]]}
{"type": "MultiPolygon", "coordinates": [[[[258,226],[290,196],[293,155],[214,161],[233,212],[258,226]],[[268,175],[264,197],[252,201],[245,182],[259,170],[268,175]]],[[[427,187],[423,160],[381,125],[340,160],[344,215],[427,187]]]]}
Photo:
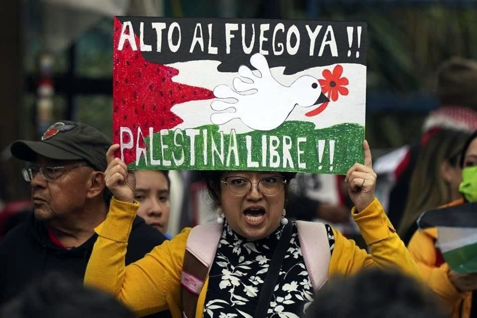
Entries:
{"type": "Polygon", "coordinates": [[[364,23],[116,17],[113,64],[116,156],[131,169],[363,161],[364,23]]]}

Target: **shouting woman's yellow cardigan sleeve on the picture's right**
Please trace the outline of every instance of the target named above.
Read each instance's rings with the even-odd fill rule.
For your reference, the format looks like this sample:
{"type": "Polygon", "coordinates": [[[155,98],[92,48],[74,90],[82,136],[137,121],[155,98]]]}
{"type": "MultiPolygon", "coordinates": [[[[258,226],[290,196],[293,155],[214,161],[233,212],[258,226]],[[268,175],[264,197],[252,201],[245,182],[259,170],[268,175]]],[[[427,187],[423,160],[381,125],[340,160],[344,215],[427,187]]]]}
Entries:
{"type": "Polygon", "coordinates": [[[382,269],[397,268],[409,276],[422,279],[416,263],[376,198],[359,213],[353,208],[352,215],[371,253],[360,249],[353,240],[344,238],[333,229],[335,245],[328,270],[330,276],[347,276],[362,268],[376,266],[382,269]]]}

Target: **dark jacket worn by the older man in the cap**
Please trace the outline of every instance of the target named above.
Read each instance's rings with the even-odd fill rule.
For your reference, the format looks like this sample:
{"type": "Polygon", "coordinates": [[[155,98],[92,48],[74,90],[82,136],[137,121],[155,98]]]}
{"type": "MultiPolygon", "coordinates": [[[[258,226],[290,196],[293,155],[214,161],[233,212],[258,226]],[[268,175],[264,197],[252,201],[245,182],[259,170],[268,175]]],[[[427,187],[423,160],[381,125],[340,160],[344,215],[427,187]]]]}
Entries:
{"type": "MultiPolygon", "coordinates": [[[[0,305],[47,272],[62,272],[82,280],[96,239],[94,234],[79,247],[63,249],[51,242],[44,222],[32,214],[26,223],[9,231],[0,241],[0,305]]],[[[164,240],[158,230],[136,217],[128,241],[126,265],[141,259],[164,240]]]]}

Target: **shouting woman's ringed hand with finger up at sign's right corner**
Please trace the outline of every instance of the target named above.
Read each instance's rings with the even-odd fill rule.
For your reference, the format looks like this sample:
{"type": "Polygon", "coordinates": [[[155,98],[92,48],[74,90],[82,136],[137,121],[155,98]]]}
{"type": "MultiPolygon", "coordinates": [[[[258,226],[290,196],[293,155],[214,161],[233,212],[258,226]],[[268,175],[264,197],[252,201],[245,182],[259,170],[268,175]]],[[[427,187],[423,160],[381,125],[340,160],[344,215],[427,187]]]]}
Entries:
{"type": "Polygon", "coordinates": [[[346,172],[348,193],[358,212],[363,211],[373,200],[376,191],[376,173],[368,142],[363,142],[364,164],[356,162],[346,172]]]}

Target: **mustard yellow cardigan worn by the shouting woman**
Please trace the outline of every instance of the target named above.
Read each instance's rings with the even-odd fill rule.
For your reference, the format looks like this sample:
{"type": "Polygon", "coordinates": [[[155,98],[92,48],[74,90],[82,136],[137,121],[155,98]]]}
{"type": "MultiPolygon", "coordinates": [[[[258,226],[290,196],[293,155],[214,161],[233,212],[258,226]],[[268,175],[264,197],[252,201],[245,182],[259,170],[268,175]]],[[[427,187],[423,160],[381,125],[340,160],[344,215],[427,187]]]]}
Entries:
{"type": "MultiPolygon", "coordinates": [[[[180,318],[180,275],[190,228],[156,246],[143,259],[125,266],[128,236],[138,206],[138,203],[111,200],[106,220],[95,229],[99,237],[89,258],[84,283],[113,294],[138,316],[168,309],[173,317],[180,318]]],[[[352,214],[371,254],[333,230],[335,245],[329,263],[330,276],[350,275],[370,266],[392,266],[421,279],[377,199],[360,213],[353,208],[352,214]]],[[[197,302],[197,318],[203,316],[207,286],[208,279],[197,302]]]]}

